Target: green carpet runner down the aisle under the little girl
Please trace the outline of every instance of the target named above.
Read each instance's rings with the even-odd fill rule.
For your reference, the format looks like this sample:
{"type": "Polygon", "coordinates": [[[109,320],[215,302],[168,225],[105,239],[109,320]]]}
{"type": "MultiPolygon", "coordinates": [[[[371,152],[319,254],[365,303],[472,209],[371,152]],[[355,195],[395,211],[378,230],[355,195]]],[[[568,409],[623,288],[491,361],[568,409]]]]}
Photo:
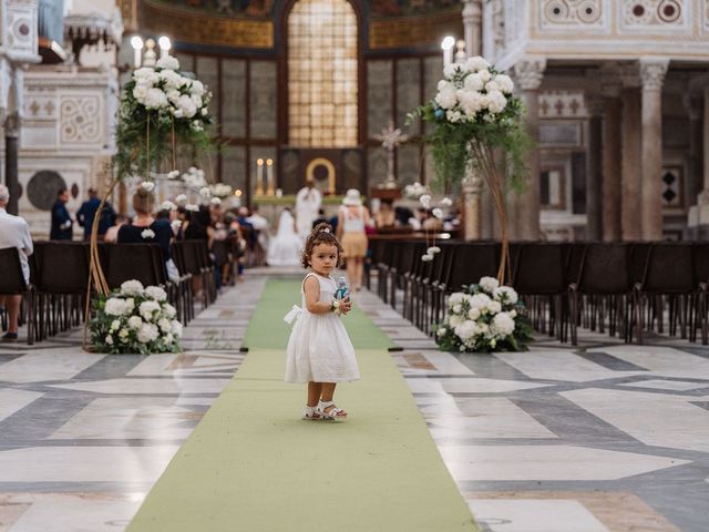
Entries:
{"type": "MultiPolygon", "coordinates": [[[[362,380],[339,385],[347,421],[304,421],[305,385],[284,382],[299,282],[270,280],[249,354],[177,451],[129,532],[475,531],[391,341],[359,309],[345,323],[362,380]]],[[[297,301],[299,304],[299,301],[297,301]]]]}

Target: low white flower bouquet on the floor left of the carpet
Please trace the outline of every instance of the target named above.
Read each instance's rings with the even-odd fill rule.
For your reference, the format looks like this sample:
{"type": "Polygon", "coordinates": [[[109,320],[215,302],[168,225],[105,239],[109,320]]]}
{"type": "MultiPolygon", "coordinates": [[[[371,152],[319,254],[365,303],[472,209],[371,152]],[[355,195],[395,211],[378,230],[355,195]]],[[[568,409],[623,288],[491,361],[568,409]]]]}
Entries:
{"type": "Polygon", "coordinates": [[[148,355],[178,352],[182,324],[158,286],[126,280],[121,289],[94,303],[89,323],[91,342],[100,352],[148,355]]]}

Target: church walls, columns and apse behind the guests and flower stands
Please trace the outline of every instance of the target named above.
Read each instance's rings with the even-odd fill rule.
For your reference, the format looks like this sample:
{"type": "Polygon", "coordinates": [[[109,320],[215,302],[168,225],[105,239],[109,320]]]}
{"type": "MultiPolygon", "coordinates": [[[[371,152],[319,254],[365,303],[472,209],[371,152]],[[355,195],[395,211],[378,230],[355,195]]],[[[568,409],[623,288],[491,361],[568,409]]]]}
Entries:
{"type": "MultiPolygon", "coordinates": [[[[7,2],[6,31],[18,28],[10,22],[30,3],[7,2]]],[[[435,93],[440,42],[450,34],[508,70],[527,103],[537,147],[527,193],[511,207],[513,237],[680,239],[707,224],[703,0],[39,6],[43,62],[17,62],[27,66],[18,102],[19,202],[37,234],[47,231],[58,184],[76,207],[89,186],[103,182],[135,35],[168,35],[183,68],[212,89],[222,149],[202,166],[208,181],[242,191],[247,204],[257,161],[269,158],[286,195],[310,173],[325,192],[335,181],[338,194],[358,187],[376,196],[388,174],[378,136],[390,123],[410,139],[393,154],[398,185],[432,182],[418,142],[424,125],[405,122],[435,93]],[[317,22],[322,17],[328,23],[317,22]],[[60,55],[51,43],[63,45],[60,55]]],[[[3,64],[8,93],[20,69],[3,64]]],[[[475,237],[495,235],[487,203],[475,214],[475,237]]]]}

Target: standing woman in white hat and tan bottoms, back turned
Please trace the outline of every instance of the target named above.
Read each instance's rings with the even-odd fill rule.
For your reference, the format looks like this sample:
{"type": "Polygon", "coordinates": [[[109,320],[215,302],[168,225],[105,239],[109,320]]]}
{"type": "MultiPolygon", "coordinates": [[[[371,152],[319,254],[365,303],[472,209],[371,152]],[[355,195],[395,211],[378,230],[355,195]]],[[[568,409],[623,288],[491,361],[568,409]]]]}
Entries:
{"type": "Polygon", "coordinates": [[[370,217],[369,209],[362,205],[357,188],[350,188],[345,194],[337,219],[337,236],[345,249],[347,276],[352,289],[358,291],[362,287],[362,273],[367,256],[368,241],[364,227],[370,224],[370,217]]]}

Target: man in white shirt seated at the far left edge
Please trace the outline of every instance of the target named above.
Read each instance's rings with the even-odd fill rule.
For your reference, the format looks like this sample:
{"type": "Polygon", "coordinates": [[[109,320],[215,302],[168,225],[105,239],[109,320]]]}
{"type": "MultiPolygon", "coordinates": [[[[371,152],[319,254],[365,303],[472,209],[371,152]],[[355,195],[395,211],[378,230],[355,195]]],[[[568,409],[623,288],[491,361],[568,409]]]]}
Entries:
{"type": "MultiPolygon", "coordinates": [[[[10,191],[7,186],[0,185],[0,249],[17,247],[20,252],[20,264],[24,282],[30,283],[30,263],[28,257],[32,255],[34,247],[30,227],[24,218],[8,214],[6,206],[10,200],[10,191]]],[[[20,315],[21,295],[0,296],[0,305],[3,305],[8,313],[8,332],[2,337],[3,341],[14,341],[18,339],[18,316],[20,315]]]]}

